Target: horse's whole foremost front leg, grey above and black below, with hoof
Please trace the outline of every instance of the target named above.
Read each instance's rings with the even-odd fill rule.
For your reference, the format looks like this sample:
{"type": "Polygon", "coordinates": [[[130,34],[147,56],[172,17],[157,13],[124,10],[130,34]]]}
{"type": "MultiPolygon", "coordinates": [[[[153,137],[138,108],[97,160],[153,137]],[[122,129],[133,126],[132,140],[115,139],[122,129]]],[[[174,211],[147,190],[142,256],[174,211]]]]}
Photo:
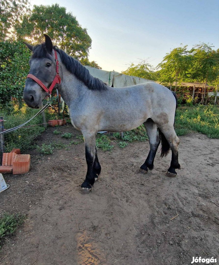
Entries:
{"type": "Polygon", "coordinates": [[[85,157],[86,157],[88,170],[85,180],[81,184],[81,188],[79,191],[80,193],[86,194],[91,191],[91,187],[95,182],[95,177],[97,177],[94,170],[96,132],[95,133],[82,132],[82,133],[84,136],[85,157]]]}

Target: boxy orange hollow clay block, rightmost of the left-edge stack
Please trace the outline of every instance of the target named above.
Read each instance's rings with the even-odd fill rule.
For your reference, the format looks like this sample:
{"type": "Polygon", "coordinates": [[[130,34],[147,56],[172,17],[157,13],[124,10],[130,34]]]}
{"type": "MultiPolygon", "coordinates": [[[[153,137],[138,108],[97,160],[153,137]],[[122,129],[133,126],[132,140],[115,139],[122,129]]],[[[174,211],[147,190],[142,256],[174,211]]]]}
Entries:
{"type": "Polygon", "coordinates": [[[13,161],[13,174],[24,174],[30,170],[30,155],[16,154],[13,161]]]}

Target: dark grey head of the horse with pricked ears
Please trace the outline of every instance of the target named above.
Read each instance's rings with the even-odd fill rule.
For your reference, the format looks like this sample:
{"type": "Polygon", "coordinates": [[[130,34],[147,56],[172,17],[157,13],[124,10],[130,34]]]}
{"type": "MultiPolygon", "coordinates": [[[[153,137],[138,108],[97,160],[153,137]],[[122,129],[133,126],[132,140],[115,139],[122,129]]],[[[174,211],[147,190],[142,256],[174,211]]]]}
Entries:
{"type": "MultiPolygon", "coordinates": [[[[45,88],[48,88],[56,77],[56,60],[51,38],[46,34],[44,36],[45,42],[40,45],[25,44],[33,52],[29,61],[30,76],[36,77],[39,82],[44,84],[45,88]]],[[[48,92],[32,78],[27,77],[26,79],[23,98],[28,107],[39,108],[48,92]]]]}

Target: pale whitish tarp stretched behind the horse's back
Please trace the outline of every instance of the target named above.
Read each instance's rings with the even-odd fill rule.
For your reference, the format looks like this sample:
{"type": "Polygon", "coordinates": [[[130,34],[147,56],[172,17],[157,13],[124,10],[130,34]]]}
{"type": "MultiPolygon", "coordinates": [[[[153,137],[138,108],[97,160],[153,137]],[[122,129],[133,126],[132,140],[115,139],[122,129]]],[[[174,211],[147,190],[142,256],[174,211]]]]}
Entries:
{"type": "Polygon", "coordinates": [[[109,86],[113,87],[126,87],[133,86],[137,84],[142,84],[146,82],[154,82],[152,80],[136,77],[136,76],[127,76],[125,74],[121,74],[115,71],[104,71],[100,69],[96,69],[90,66],[85,66],[89,73],[107,83],[109,86]]]}

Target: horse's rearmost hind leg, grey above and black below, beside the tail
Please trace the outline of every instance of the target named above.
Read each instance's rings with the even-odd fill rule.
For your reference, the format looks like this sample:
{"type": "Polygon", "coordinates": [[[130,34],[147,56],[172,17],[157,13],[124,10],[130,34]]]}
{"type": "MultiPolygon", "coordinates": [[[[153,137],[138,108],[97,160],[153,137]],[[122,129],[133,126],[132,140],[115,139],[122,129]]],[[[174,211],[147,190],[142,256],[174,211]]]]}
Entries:
{"type": "Polygon", "coordinates": [[[166,173],[166,176],[172,178],[172,177],[175,177],[177,174],[175,169],[180,169],[180,164],[178,161],[178,151],[179,151],[180,141],[175,133],[173,126],[170,126],[170,128],[166,126],[163,128],[159,127],[159,129],[161,130],[161,132],[163,133],[164,137],[167,140],[167,142],[162,140],[162,143],[166,142],[167,144],[169,144],[171,152],[172,152],[172,159],[171,159],[170,167],[166,173]]]}

